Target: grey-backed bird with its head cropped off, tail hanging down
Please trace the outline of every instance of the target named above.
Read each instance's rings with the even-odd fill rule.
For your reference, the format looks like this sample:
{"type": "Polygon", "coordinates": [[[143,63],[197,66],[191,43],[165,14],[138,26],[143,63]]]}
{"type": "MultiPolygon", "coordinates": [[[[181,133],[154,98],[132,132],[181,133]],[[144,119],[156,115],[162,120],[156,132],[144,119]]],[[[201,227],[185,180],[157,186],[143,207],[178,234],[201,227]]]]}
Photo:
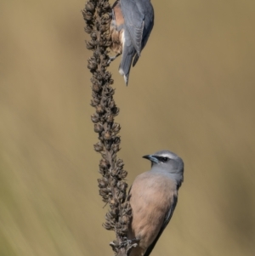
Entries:
{"type": "Polygon", "coordinates": [[[150,0],[116,0],[112,6],[110,26],[111,50],[122,54],[119,72],[127,85],[131,64],[139,60],[154,26],[154,9],[150,0]]]}

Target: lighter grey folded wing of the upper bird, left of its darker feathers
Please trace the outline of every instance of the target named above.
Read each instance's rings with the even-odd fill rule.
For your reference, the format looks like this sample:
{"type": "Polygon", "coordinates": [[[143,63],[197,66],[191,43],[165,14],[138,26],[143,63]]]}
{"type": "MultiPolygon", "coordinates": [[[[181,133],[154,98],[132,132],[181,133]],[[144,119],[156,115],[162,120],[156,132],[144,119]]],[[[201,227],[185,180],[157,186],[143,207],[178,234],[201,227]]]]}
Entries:
{"type": "Polygon", "coordinates": [[[121,0],[121,9],[133,47],[140,55],[144,31],[145,11],[143,1],[121,0]]]}

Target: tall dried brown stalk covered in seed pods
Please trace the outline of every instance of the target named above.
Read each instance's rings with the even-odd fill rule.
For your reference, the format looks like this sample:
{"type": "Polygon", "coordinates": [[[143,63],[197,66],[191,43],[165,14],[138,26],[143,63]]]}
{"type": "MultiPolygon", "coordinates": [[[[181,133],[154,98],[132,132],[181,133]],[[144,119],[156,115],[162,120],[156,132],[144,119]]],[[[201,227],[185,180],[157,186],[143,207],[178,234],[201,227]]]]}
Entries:
{"type": "Polygon", "coordinates": [[[99,134],[99,142],[94,150],[102,156],[99,162],[99,173],[102,178],[99,182],[99,195],[103,201],[109,203],[109,212],[105,215],[106,230],[115,230],[116,240],[111,247],[118,256],[127,256],[127,253],[136,244],[127,240],[127,229],[132,210],[127,200],[127,183],[124,179],[127,171],[123,170],[124,163],[116,158],[120,150],[120,124],[114,122],[119,113],[113,100],[113,80],[107,71],[109,56],[107,48],[111,46],[111,6],[108,0],[90,0],[82,10],[86,22],[85,31],[91,40],[86,42],[87,48],[93,51],[88,59],[88,69],[92,73],[92,100],[91,105],[95,113],[91,120],[94,122],[94,132],[99,134]]]}

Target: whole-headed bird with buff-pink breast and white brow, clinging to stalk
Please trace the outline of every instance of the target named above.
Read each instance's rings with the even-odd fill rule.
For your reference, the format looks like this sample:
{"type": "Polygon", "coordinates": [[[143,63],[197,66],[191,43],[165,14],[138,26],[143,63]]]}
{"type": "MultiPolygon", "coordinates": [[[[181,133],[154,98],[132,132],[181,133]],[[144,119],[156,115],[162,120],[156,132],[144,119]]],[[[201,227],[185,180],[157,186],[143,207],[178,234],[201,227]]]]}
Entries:
{"type": "Polygon", "coordinates": [[[137,243],[128,256],[149,256],[172,218],[178,189],[184,181],[184,162],[171,151],[143,156],[151,169],[139,174],[129,191],[133,217],[127,239],[137,243]]]}

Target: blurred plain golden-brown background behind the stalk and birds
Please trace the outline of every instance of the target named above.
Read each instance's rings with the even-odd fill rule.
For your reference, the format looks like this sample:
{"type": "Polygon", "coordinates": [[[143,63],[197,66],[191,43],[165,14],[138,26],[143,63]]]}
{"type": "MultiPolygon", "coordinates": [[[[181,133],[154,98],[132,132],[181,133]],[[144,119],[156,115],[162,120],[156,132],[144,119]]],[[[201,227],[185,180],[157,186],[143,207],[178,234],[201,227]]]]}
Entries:
{"type": "MultiPolygon", "coordinates": [[[[77,1],[1,1],[0,255],[112,255],[102,228],[90,52],[77,1]]],[[[173,219],[153,255],[255,255],[255,2],[156,1],[126,88],[117,68],[130,185],[141,156],[184,158],[173,219]]]]}

